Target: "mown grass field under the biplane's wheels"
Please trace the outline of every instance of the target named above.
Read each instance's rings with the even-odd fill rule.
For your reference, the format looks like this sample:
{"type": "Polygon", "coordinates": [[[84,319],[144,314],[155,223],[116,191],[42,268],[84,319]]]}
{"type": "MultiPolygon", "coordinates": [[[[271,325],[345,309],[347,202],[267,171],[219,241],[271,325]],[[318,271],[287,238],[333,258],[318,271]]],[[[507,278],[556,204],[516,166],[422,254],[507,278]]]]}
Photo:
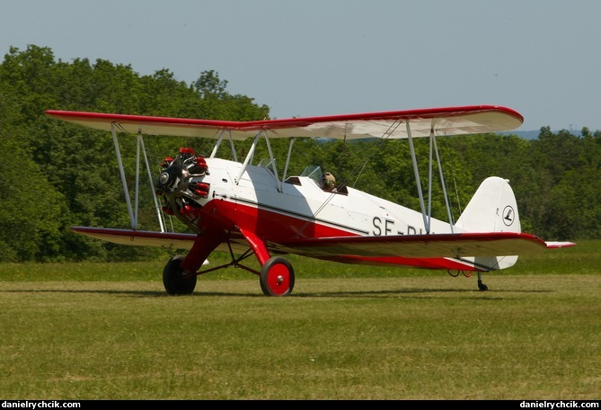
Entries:
{"type": "Polygon", "coordinates": [[[287,298],[242,270],[169,297],[165,261],[0,264],[0,398],[598,400],[600,245],[521,258],[486,292],[296,257],[287,298]]]}

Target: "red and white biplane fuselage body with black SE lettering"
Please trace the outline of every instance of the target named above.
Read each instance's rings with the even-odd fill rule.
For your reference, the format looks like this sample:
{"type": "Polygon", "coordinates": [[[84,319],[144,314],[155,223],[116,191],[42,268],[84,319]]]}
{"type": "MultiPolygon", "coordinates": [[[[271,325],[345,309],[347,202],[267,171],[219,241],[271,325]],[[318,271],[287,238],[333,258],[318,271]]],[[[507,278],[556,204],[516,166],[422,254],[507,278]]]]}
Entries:
{"type": "MultiPolygon", "coordinates": [[[[206,163],[207,172],[188,177],[187,182],[189,187],[208,187],[206,195],[189,194],[184,201],[192,211],[180,212],[181,220],[196,232],[242,227],[274,243],[323,236],[425,233],[420,212],[367,192],[350,187],[324,191],[309,176],[291,176],[278,183],[268,167],[248,165],[240,174],[242,164],[220,158],[207,158],[206,163]]],[[[181,203],[172,208],[177,212],[181,203]]],[[[433,232],[451,232],[448,223],[432,219],[430,224],[433,232]]]]}

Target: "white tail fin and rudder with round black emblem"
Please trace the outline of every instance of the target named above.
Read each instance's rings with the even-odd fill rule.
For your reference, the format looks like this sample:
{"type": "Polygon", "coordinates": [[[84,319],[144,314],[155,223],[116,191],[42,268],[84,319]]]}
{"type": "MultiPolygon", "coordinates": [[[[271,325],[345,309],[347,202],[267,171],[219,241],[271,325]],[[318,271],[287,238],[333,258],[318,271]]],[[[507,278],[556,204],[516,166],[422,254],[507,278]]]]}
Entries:
{"type": "MultiPolygon", "coordinates": [[[[508,180],[498,176],[485,179],[455,227],[463,232],[521,232],[516,196],[508,180]]],[[[489,270],[506,269],[516,262],[517,255],[473,258],[475,265],[489,270]]]]}

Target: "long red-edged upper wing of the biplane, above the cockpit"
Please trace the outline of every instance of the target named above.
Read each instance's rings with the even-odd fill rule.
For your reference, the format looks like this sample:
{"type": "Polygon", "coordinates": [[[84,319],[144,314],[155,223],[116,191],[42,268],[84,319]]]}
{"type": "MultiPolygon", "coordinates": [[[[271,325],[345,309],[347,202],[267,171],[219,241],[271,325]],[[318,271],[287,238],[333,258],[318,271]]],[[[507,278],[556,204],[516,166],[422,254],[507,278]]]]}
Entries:
{"type": "Polygon", "coordinates": [[[286,120],[223,121],[194,120],[100,112],[56,111],[46,114],[58,120],[74,122],[93,129],[137,134],[181,137],[217,138],[221,132],[234,139],[254,137],[259,131],[270,132],[270,138],[407,138],[478,134],[517,129],[524,118],[517,111],[498,105],[429,108],[405,111],[367,112],[286,120]]]}

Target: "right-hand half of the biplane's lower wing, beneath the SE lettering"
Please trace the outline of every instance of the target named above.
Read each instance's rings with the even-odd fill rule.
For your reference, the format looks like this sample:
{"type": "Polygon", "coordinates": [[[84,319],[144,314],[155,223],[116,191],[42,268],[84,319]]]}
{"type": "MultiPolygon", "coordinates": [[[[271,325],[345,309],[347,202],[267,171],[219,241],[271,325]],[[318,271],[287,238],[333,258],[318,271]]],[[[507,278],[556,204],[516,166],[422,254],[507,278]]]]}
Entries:
{"type": "Polygon", "coordinates": [[[311,257],[355,255],[365,257],[460,258],[535,254],[544,249],[575,245],[546,243],[516,232],[430,234],[401,236],[344,236],[303,239],[276,245],[280,250],[311,257]]]}

